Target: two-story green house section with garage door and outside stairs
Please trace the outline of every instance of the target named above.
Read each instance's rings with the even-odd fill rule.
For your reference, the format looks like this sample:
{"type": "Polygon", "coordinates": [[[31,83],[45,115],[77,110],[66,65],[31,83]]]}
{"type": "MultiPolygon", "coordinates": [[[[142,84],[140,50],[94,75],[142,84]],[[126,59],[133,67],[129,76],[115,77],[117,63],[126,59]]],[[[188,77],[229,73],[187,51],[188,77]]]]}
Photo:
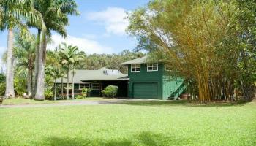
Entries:
{"type": "Polygon", "coordinates": [[[181,77],[171,77],[164,63],[148,63],[147,56],[127,61],[128,98],[131,99],[177,99],[186,86],[181,77]]]}

